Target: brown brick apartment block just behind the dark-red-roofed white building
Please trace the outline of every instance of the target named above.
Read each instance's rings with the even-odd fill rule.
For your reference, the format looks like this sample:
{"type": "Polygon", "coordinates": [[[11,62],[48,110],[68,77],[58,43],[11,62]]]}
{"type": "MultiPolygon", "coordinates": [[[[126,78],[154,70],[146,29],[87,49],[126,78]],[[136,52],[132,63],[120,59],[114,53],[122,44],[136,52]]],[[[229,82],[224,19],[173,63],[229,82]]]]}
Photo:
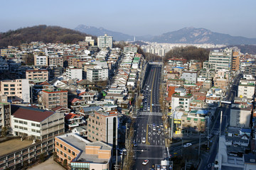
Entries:
{"type": "Polygon", "coordinates": [[[59,89],[43,90],[41,96],[41,103],[44,108],[55,108],[56,106],[63,106],[68,108],[68,91],[59,89]]]}

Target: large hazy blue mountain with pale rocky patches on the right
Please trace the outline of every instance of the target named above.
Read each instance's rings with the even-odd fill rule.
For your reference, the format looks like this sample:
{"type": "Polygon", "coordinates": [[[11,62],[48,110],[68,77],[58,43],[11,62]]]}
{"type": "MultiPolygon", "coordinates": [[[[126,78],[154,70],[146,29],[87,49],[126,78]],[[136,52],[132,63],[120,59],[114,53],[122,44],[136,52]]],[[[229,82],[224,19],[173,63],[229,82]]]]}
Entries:
{"type": "Polygon", "coordinates": [[[204,28],[182,28],[173,32],[154,36],[149,40],[161,43],[191,43],[191,44],[223,44],[223,45],[253,45],[256,38],[235,37],[223,33],[214,33],[204,28]]]}

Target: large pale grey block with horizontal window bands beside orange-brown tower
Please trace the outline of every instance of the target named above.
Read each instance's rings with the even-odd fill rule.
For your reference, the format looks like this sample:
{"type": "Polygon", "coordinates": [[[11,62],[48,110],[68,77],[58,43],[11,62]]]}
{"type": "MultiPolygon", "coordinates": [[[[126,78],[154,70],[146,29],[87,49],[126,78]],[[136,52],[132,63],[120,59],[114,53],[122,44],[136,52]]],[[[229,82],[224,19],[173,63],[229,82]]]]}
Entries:
{"type": "Polygon", "coordinates": [[[225,50],[213,50],[210,51],[208,60],[208,69],[214,69],[218,71],[219,69],[232,69],[233,62],[233,50],[226,48],[225,50]]]}

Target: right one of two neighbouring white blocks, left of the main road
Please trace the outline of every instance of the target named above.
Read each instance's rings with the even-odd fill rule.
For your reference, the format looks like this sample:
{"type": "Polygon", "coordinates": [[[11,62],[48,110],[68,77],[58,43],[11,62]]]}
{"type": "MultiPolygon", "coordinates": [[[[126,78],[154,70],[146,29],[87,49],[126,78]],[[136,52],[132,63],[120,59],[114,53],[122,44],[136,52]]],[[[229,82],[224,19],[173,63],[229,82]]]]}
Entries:
{"type": "Polygon", "coordinates": [[[105,81],[108,79],[108,67],[94,67],[87,68],[87,80],[95,81],[105,81]]]}

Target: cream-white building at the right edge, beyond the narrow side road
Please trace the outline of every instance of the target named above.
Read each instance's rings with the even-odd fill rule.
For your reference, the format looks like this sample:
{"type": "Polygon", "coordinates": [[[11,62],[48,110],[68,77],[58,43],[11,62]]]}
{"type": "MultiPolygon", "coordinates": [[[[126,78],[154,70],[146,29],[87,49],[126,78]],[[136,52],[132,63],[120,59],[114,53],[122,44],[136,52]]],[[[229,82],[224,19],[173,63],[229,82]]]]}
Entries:
{"type": "Polygon", "coordinates": [[[241,79],[238,85],[238,97],[252,99],[255,94],[255,80],[241,79]]]}

